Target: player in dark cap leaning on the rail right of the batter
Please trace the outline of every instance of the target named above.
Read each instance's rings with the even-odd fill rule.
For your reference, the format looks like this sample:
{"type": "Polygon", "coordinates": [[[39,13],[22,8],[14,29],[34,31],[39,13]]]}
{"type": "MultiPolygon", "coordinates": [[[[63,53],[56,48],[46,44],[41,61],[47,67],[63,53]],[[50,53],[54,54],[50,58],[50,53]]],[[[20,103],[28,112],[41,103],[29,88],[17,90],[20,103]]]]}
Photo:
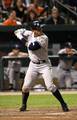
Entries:
{"type": "Polygon", "coordinates": [[[65,48],[61,49],[58,52],[60,57],[58,65],[58,77],[60,87],[64,87],[64,84],[67,89],[72,87],[72,76],[71,76],[71,67],[73,64],[73,55],[77,54],[77,51],[72,48],[70,42],[66,42],[65,48]]]}

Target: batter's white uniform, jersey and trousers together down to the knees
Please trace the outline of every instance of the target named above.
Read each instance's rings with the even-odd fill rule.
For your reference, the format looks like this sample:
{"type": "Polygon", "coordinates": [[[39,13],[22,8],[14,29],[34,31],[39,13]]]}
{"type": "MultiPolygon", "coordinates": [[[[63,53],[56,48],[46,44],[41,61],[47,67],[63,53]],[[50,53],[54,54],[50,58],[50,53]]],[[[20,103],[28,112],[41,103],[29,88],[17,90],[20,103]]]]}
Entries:
{"type": "Polygon", "coordinates": [[[31,89],[35,85],[37,77],[41,75],[47,89],[55,92],[57,88],[52,82],[51,64],[48,59],[48,37],[45,34],[34,37],[34,32],[25,29],[16,30],[15,35],[20,40],[22,40],[23,36],[26,38],[26,45],[31,60],[22,90],[27,91],[31,89]],[[41,47],[37,50],[29,49],[30,45],[34,45],[36,41],[41,47]]]}

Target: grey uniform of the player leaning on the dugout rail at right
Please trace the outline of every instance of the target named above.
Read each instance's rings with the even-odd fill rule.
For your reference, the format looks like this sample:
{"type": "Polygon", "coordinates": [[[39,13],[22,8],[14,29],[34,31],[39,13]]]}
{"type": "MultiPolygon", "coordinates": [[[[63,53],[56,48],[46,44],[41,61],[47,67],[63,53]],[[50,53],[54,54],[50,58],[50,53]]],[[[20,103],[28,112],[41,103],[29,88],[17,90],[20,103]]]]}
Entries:
{"type": "MultiPolygon", "coordinates": [[[[73,54],[77,53],[77,51],[73,48],[71,48],[73,54]]],[[[58,52],[59,55],[61,54],[67,54],[66,48],[61,49],[58,52]]],[[[63,57],[63,59],[60,59],[58,64],[58,79],[59,79],[59,85],[60,87],[66,86],[66,88],[71,88],[72,85],[72,76],[71,76],[71,67],[72,67],[73,59],[70,56],[63,57]]]]}

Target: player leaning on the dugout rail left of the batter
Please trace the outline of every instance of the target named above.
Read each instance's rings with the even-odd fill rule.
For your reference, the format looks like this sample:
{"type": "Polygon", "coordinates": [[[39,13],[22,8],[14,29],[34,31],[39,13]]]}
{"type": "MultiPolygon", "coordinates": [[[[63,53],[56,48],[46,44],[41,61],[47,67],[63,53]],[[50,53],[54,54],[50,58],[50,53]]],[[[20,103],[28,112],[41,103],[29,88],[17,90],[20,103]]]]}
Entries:
{"type": "MultiPolygon", "coordinates": [[[[15,45],[10,53],[8,53],[9,57],[28,57],[28,54],[20,51],[20,46],[15,45]]],[[[17,80],[20,78],[20,69],[21,69],[21,61],[20,60],[9,60],[8,62],[8,77],[9,77],[9,90],[18,89],[17,80]]]]}

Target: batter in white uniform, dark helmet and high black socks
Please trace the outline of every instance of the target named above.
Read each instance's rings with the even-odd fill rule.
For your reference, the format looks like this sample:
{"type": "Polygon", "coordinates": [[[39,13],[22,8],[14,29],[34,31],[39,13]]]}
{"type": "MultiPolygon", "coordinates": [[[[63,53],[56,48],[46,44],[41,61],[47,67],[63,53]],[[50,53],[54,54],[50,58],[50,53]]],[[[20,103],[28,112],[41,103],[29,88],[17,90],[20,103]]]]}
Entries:
{"type": "Polygon", "coordinates": [[[31,60],[22,87],[22,107],[20,111],[27,109],[29,90],[35,84],[39,74],[41,74],[47,89],[51,91],[61,103],[63,111],[67,112],[69,110],[67,104],[52,82],[51,65],[48,60],[48,37],[42,32],[39,22],[33,22],[31,31],[22,28],[16,30],[15,35],[27,45],[31,60]]]}

